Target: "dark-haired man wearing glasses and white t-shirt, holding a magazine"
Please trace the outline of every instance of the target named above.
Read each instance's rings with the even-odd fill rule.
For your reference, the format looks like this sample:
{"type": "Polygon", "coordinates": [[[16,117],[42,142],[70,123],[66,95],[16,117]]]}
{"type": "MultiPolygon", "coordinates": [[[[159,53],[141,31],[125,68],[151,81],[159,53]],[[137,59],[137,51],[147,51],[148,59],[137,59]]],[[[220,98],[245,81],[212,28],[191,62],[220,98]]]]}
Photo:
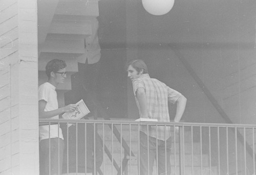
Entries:
{"type": "MultiPolygon", "coordinates": [[[[59,83],[63,83],[67,78],[66,67],[67,65],[63,60],[54,59],[47,63],[48,82],[40,85],[38,89],[39,118],[58,119],[59,114],[75,110],[75,104],[58,108],[55,89],[59,83]]],[[[58,124],[39,126],[40,175],[61,174],[64,147],[62,131],[58,124]]]]}

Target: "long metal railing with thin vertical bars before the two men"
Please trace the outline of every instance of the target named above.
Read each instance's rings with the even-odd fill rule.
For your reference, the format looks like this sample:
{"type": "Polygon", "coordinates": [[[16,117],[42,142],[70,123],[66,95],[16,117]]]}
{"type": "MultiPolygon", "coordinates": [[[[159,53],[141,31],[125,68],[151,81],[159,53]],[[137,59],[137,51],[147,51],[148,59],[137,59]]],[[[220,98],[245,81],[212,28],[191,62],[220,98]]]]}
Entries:
{"type": "MultiPolygon", "coordinates": [[[[62,129],[65,140],[62,174],[142,174],[141,126],[170,128],[172,151],[171,173],[168,174],[256,174],[255,124],[83,119],[39,119],[39,124],[58,124],[62,129]],[[71,123],[73,126],[68,127],[71,123]],[[175,134],[174,127],[179,127],[179,134],[175,134]],[[114,134],[114,130],[119,134],[114,134]]],[[[151,144],[148,138],[146,147],[151,144]]],[[[160,142],[156,142],[157,147],[158,144],[160,142]]],[[[166,140],[163,145],[166,153],[166,140]]],[[[147,153],[153,153],[151,151],[147,149],[147,153]]],[[[158,151],[156,148],[153,174],[161,169],[158,151]]],[[[167,159],[165,157],[163,163],[165,171],[169,167],[167,159]]],[[[144,162],[150,165],[149,160],[144,162]]],[[[151,169],[151,166],[146,167],[151,169]]]]}

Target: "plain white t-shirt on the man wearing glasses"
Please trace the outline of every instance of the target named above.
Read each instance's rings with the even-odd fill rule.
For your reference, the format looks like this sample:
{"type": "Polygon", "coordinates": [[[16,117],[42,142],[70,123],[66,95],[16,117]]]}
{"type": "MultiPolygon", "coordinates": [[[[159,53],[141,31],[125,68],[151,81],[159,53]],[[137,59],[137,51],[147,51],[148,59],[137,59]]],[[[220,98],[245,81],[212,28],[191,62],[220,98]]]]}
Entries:
{"type": "MultiPolygon", "coordinates": [[[[55,89],[56,87],[48,82],[40,85],[38,88],[38,101],[46,101],[45,111],[58,109],[57,93],[55,89]]],[[[51,117],[51,119],[58,118],[58,115],[51,117]]],[[[62,130],[58,127],[58,124],[51,124],[50,132],[50,138],[59,137],[63,139],[62,130]]],[[[39,141],[43,139],[49,139],[49,125],[39,126],[39,141]]]]}

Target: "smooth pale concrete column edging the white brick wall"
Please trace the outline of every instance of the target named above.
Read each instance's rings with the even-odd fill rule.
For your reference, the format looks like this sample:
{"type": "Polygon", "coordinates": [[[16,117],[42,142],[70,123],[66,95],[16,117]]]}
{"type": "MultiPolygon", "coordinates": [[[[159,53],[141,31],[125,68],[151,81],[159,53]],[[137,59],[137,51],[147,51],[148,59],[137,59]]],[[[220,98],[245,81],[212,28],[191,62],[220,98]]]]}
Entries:
{"type": "Polygon", "coordinates": [[[19,172],[39,174],[37,1],[18,0],[19,172]]]}

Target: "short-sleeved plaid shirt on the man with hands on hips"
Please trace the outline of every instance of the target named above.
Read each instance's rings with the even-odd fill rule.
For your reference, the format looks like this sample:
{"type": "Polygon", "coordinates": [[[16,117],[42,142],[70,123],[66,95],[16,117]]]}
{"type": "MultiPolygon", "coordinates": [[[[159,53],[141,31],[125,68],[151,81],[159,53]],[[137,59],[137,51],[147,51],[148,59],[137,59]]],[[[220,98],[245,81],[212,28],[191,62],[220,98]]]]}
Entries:
{"type": "MultiPolygon", "coordinates": [[[[133,91],[140,117],[141,110],[136,97],[138,88],[145,90],[148,118],[158,119],[159,122],[169,122],[168,102],[175,104],[181,93],[169,88],[157,79],[150,78],[148,73],[142,74],[133,81],[133,91]]],[[[147,134],[147,126],[141,126],[140,130],[147,134]]],[[[148,127],[148,135],[157,137],[160,140],[166,140],[170,137],[170,127],[159,126],[156,130],[155,126],[150,126],[148,127]]]]}

